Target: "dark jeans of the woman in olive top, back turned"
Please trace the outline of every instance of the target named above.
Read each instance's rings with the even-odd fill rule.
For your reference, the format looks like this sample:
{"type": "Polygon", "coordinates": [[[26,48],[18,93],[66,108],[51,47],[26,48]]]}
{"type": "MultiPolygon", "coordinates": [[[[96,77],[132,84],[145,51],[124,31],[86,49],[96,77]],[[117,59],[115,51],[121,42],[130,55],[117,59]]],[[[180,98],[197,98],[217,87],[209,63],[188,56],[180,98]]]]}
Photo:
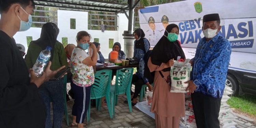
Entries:
{"type": "Polygon", "coordinates": [[[64,112],[63,79],[44,82],[39,87],[39,95],[46,106],[45,128],[60,128],[64,112]],[[53,125],[50,102],[53,102],[53,125]]]}

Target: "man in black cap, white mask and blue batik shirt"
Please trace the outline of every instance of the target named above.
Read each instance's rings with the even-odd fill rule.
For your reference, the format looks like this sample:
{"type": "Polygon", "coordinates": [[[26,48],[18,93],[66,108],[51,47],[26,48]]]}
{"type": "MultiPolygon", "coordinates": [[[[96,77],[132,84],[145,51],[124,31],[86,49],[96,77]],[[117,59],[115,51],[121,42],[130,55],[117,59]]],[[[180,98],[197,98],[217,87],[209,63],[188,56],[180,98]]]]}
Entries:
{"type": "Polygon", "coordinates": [[[230,42],[218,32],[219,14],[203,16],[204,38],[199,41],[188,87],[197,128],[219,128],[219,109],[231,54],[230,42]]]}

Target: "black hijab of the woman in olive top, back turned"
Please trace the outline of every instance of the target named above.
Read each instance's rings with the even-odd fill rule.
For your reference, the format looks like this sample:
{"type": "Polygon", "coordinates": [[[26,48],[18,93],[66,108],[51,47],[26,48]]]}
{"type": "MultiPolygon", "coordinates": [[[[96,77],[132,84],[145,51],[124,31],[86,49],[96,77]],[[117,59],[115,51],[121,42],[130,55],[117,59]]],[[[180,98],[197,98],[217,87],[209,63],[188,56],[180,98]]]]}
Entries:
{"type": "Polygon", "coordinates": [[[36,41],[33,41],[35,44],[39,45],[42,50],[44,50],[47,46],[52,47],[50,60],[53,59],[54,45],[57,42],[58,34],[58,26],[52,22],[49,22],[43,25],[40,38],[36,41]]]}

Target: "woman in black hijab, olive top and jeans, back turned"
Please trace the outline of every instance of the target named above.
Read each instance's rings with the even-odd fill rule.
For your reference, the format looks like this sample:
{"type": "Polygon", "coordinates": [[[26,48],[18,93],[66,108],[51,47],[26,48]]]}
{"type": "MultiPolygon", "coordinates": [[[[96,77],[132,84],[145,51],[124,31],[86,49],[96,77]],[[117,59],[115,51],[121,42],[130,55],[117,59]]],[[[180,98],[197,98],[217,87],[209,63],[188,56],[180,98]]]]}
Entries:
{"type": "MultiPolygon", "coordinates": [[[[59,34],[59,28],[54,23],[46,23],[43,25],[41,30],[41,36],[38,40],[32,41],[29,44],[26,65],[28,69],[32,68],[35,61],[37,60],[41,51],[47,46],[52,47],[51,58],[52,65],[51,70],[56,70],[61,66],[68,66],[67,57],[63,45],[57,41],[59,34]]],[[[62,116],[64,111],[63,106],[63,79],[52,80],[44,82],[39,88],[39,95],[44,100],[46,106],[46,122],[45,127],[60,128],[62,122],[62,116]],[[53,125],[51,121],[51,107],[50,101],[53,102],[53,125]]]]}

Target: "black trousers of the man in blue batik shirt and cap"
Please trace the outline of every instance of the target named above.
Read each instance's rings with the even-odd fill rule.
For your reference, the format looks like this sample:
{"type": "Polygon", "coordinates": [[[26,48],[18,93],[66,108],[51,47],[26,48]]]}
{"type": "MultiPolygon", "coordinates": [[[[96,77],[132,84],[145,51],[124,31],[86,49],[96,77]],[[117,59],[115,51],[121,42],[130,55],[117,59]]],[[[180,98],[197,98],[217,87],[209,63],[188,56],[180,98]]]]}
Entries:
{"type": "Polygon", "coordinates": [[[197,128],[219,128],[219,108],[221,98],[201,93],[191,94],[197,128]]]}

